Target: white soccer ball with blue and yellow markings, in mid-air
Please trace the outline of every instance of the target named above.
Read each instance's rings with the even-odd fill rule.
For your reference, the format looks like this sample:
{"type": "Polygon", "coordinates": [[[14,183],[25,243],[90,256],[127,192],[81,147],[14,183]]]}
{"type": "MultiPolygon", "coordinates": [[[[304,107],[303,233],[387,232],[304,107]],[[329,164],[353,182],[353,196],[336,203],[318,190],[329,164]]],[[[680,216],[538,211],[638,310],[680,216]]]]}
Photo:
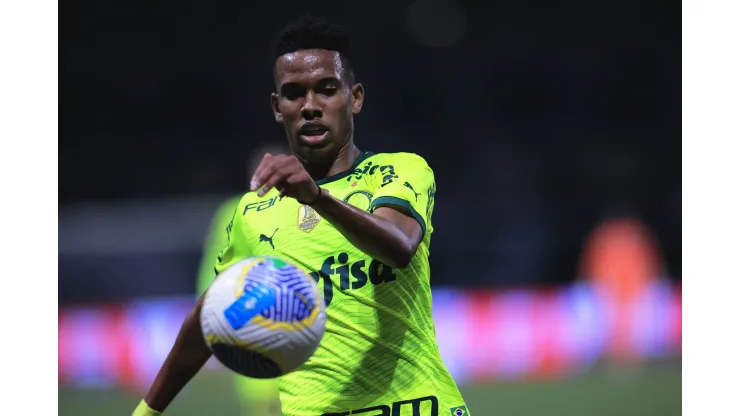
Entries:
{"type": "Polygon", "coordinates": [[[275,378],[316,351],[326,311],[318,285],[302,269],[274,257],[251,257],[211,283],[200,323],[223,365],[247,377],[275,378]]]}

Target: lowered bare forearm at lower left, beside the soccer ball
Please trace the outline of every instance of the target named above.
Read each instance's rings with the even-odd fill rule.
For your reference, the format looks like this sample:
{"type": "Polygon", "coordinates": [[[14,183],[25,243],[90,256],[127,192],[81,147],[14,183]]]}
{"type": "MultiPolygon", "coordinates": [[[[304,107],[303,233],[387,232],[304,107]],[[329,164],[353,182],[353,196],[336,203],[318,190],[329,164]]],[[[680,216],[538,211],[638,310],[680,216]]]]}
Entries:
{"type": "Polygon", "coordinates": [[[175,345],[144,398],[154,410],[164,411],[211,356],[200,327],[202,302],[201,297],[185,318],[175,345]]]}

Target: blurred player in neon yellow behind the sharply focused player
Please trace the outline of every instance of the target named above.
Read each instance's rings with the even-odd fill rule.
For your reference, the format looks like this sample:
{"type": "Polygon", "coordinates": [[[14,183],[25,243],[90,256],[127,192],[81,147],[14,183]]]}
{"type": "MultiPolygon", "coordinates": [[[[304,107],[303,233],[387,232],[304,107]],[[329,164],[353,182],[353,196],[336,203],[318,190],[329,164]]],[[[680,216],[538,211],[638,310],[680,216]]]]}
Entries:
{"type": "MultiPolygon", "coordinates": [[[[256,149],[248,162],[248,175],[251,177],[257,170],[262,155],[265,151],[278,154],[287,151],[283,146],[277,144],[266,144],[256,149]],[[260,152],[261,151],[261,152],[260,152]]],[[[201,255],[200,267],[197,279],[197,296],[205,293],[213,281],[213,265],[219,253],[227,245],[227,229],[239,206],[243,194],[235,195],[223,201],[216,210],[206,234],[203,254],[201,255]]],[[[280,402],[278,400],[277,380],[255,379],[234,374],[234,387],[244,415],[279,416],[280,402]]]]}

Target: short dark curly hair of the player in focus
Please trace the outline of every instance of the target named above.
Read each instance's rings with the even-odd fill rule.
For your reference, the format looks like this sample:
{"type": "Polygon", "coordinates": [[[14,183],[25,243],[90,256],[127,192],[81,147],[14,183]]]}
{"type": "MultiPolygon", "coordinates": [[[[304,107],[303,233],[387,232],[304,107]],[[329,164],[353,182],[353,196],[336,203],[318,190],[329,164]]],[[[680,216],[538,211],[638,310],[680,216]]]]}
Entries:
{"type": "Polygon", "coordinates": [[[286,53],[307,49],[325,49],[339,52],[345,76],[354,83],[352,66],[352,44],[349,34],[341,27],[326,19],[303,15],[289,23],[277,37],[272,48],[273,76],[277,59],[286,53]]]}

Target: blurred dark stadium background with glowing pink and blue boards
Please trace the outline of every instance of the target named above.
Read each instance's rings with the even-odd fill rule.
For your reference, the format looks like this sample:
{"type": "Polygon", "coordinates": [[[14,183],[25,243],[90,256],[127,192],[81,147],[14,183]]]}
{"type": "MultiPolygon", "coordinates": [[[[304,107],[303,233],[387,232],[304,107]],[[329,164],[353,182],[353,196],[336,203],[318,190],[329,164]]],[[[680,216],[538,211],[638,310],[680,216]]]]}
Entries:
{"type": "MultiPolygon", "coordinates": [[[[679,7],[65,3],[60,414],[128,414],[153,379],[214,215],[283,145],[269,47],[307,11],[353,36],[358,146],[435,170],[434,315],[469,409],[680,414],[679,7]]],[[[229,377],[209,363],[168,414],[237,414],[229,377]]]]}

